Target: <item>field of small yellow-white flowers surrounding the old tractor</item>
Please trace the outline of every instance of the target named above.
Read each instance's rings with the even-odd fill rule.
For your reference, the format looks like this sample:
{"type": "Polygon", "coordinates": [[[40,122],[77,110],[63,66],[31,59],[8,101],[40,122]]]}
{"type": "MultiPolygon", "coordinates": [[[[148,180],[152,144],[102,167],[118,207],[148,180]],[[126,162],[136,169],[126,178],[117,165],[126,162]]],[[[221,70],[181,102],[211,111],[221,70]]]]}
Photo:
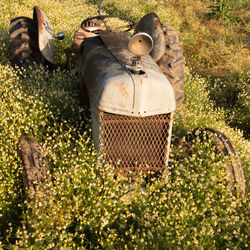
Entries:
{"type": "MultiPolygon", "coordinates": [[[[235,59],[234,69],[223,55],[222,69],[216,61],[202,64],[206,55],[212,56],[199,51],[204,54],[197,55],[201,68],[196,68],[190,30],[198,20],[197,13],[201,15],[214,1],[169,2],[0,3],[0,248],[248,248],[249,74],[244,59],[236,62],[233,57],[246,50],[227,48],[235,59]],[[180,2],[186,4],[185,9],[180,2]],[[27,75],[10,66],[8,29],[11,18],[32,17],[35,5],[47,13],[53,32],[63,31],[66,39],[55,41],[57,69],[53,73],[40,68],[27,75]],[[192,16],[194,6],[197,16],[192,16]],[[197,143],[192,155],[179,149],[178,160],[171,157],[164,177],[149,181],[140,175],[136,179],[114,178],[112,167],[103,166],[92,145],[89,118],[80,104],[78,75],[63,69],[63,50],[72,46],[74,31],[83,19],[96,15],[99,7],[136,20],[155,11],[163,22],[181,30],[187,61],[185,102],[175,112],[174,133],[183,137],[197,126],[225,133],[242,162],[247,186],[244,197],[228,192],[227,159],[217,156],[209,143],[197,143]],[[189,23],[183,13],[190,14],[189,23]],[[222,76],[223,70],[230,77],[222,76]],[[237,98],[226,106],[232,93],[237,98]],[[22,164],[17,153],[22,135],[43,145],[51,175],[51,181],[38,186],[29,198],[22,192],[22,164]]],[[[209,27],[219,25],[215,22],[223,23],[213,19],[209,27]]],[[[210,46],[212,42],[206,43],[210,46]]],[[[219,48],[223,42],[218,43],[215,46],[219,48]]]]}

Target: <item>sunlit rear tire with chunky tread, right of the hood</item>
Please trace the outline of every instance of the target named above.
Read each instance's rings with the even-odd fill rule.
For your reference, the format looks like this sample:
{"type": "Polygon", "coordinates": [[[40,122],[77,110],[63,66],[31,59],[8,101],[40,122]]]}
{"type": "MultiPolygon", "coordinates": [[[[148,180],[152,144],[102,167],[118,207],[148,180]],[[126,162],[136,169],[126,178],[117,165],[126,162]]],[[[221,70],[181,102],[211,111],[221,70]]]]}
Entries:
{"type": "Polygon", "coordinates": [[[162,58],[157,62],[162,72],[171,83],[179,107],[184,100],[184,63],[182,42],[179,41],[178,31],[169,24],[162,24],[166,40],[166,49],[162,58]]]}

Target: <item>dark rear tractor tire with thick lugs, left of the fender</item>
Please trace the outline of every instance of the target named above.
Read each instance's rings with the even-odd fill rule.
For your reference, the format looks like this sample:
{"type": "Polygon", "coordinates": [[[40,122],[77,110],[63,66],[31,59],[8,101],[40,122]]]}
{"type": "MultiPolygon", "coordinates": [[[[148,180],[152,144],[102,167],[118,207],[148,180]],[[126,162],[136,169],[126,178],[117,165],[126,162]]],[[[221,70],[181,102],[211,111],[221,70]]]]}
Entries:
{"type": "Polygon", "coordinates": [[[10,21],[9,57],[13,67],[29,69],[44,63],[38,45],[38,26],[33,19],[17,17],[10,21]]]}

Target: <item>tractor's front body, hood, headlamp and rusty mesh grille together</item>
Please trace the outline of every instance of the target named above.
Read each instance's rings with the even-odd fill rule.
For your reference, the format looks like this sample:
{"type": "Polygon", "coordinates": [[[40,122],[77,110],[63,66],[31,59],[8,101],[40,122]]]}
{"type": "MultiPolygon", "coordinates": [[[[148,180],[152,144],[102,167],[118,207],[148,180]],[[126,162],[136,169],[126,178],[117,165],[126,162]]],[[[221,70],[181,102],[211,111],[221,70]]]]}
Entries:
{"type": "Polygon", "coordinates": [[[147,33],[99,30],[79,48],[95,148],[116,171],[156,172],[168,165],[174,91],[149,55],[147,33]]]}

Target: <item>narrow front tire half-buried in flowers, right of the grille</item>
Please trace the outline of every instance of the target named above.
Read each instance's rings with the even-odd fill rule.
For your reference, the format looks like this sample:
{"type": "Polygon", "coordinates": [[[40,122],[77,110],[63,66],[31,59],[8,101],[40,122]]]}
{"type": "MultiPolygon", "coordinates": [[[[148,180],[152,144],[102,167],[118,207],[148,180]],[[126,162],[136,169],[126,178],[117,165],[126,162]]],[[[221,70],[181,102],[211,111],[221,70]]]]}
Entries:
{"type": "Polygon", "coordinates": [[[245,194],[245,179],[241,165],[241,160],[238,157],[230,140],[221,132],[211,128],[196,128],[186,138],[188,142],[193,143],[195,139],[204,140],[212,139],[217,152],[222,157],[229,157],[226,167],[226,173],[229,177],[229,186],[233,194],[243,196],[245,194]]]}

